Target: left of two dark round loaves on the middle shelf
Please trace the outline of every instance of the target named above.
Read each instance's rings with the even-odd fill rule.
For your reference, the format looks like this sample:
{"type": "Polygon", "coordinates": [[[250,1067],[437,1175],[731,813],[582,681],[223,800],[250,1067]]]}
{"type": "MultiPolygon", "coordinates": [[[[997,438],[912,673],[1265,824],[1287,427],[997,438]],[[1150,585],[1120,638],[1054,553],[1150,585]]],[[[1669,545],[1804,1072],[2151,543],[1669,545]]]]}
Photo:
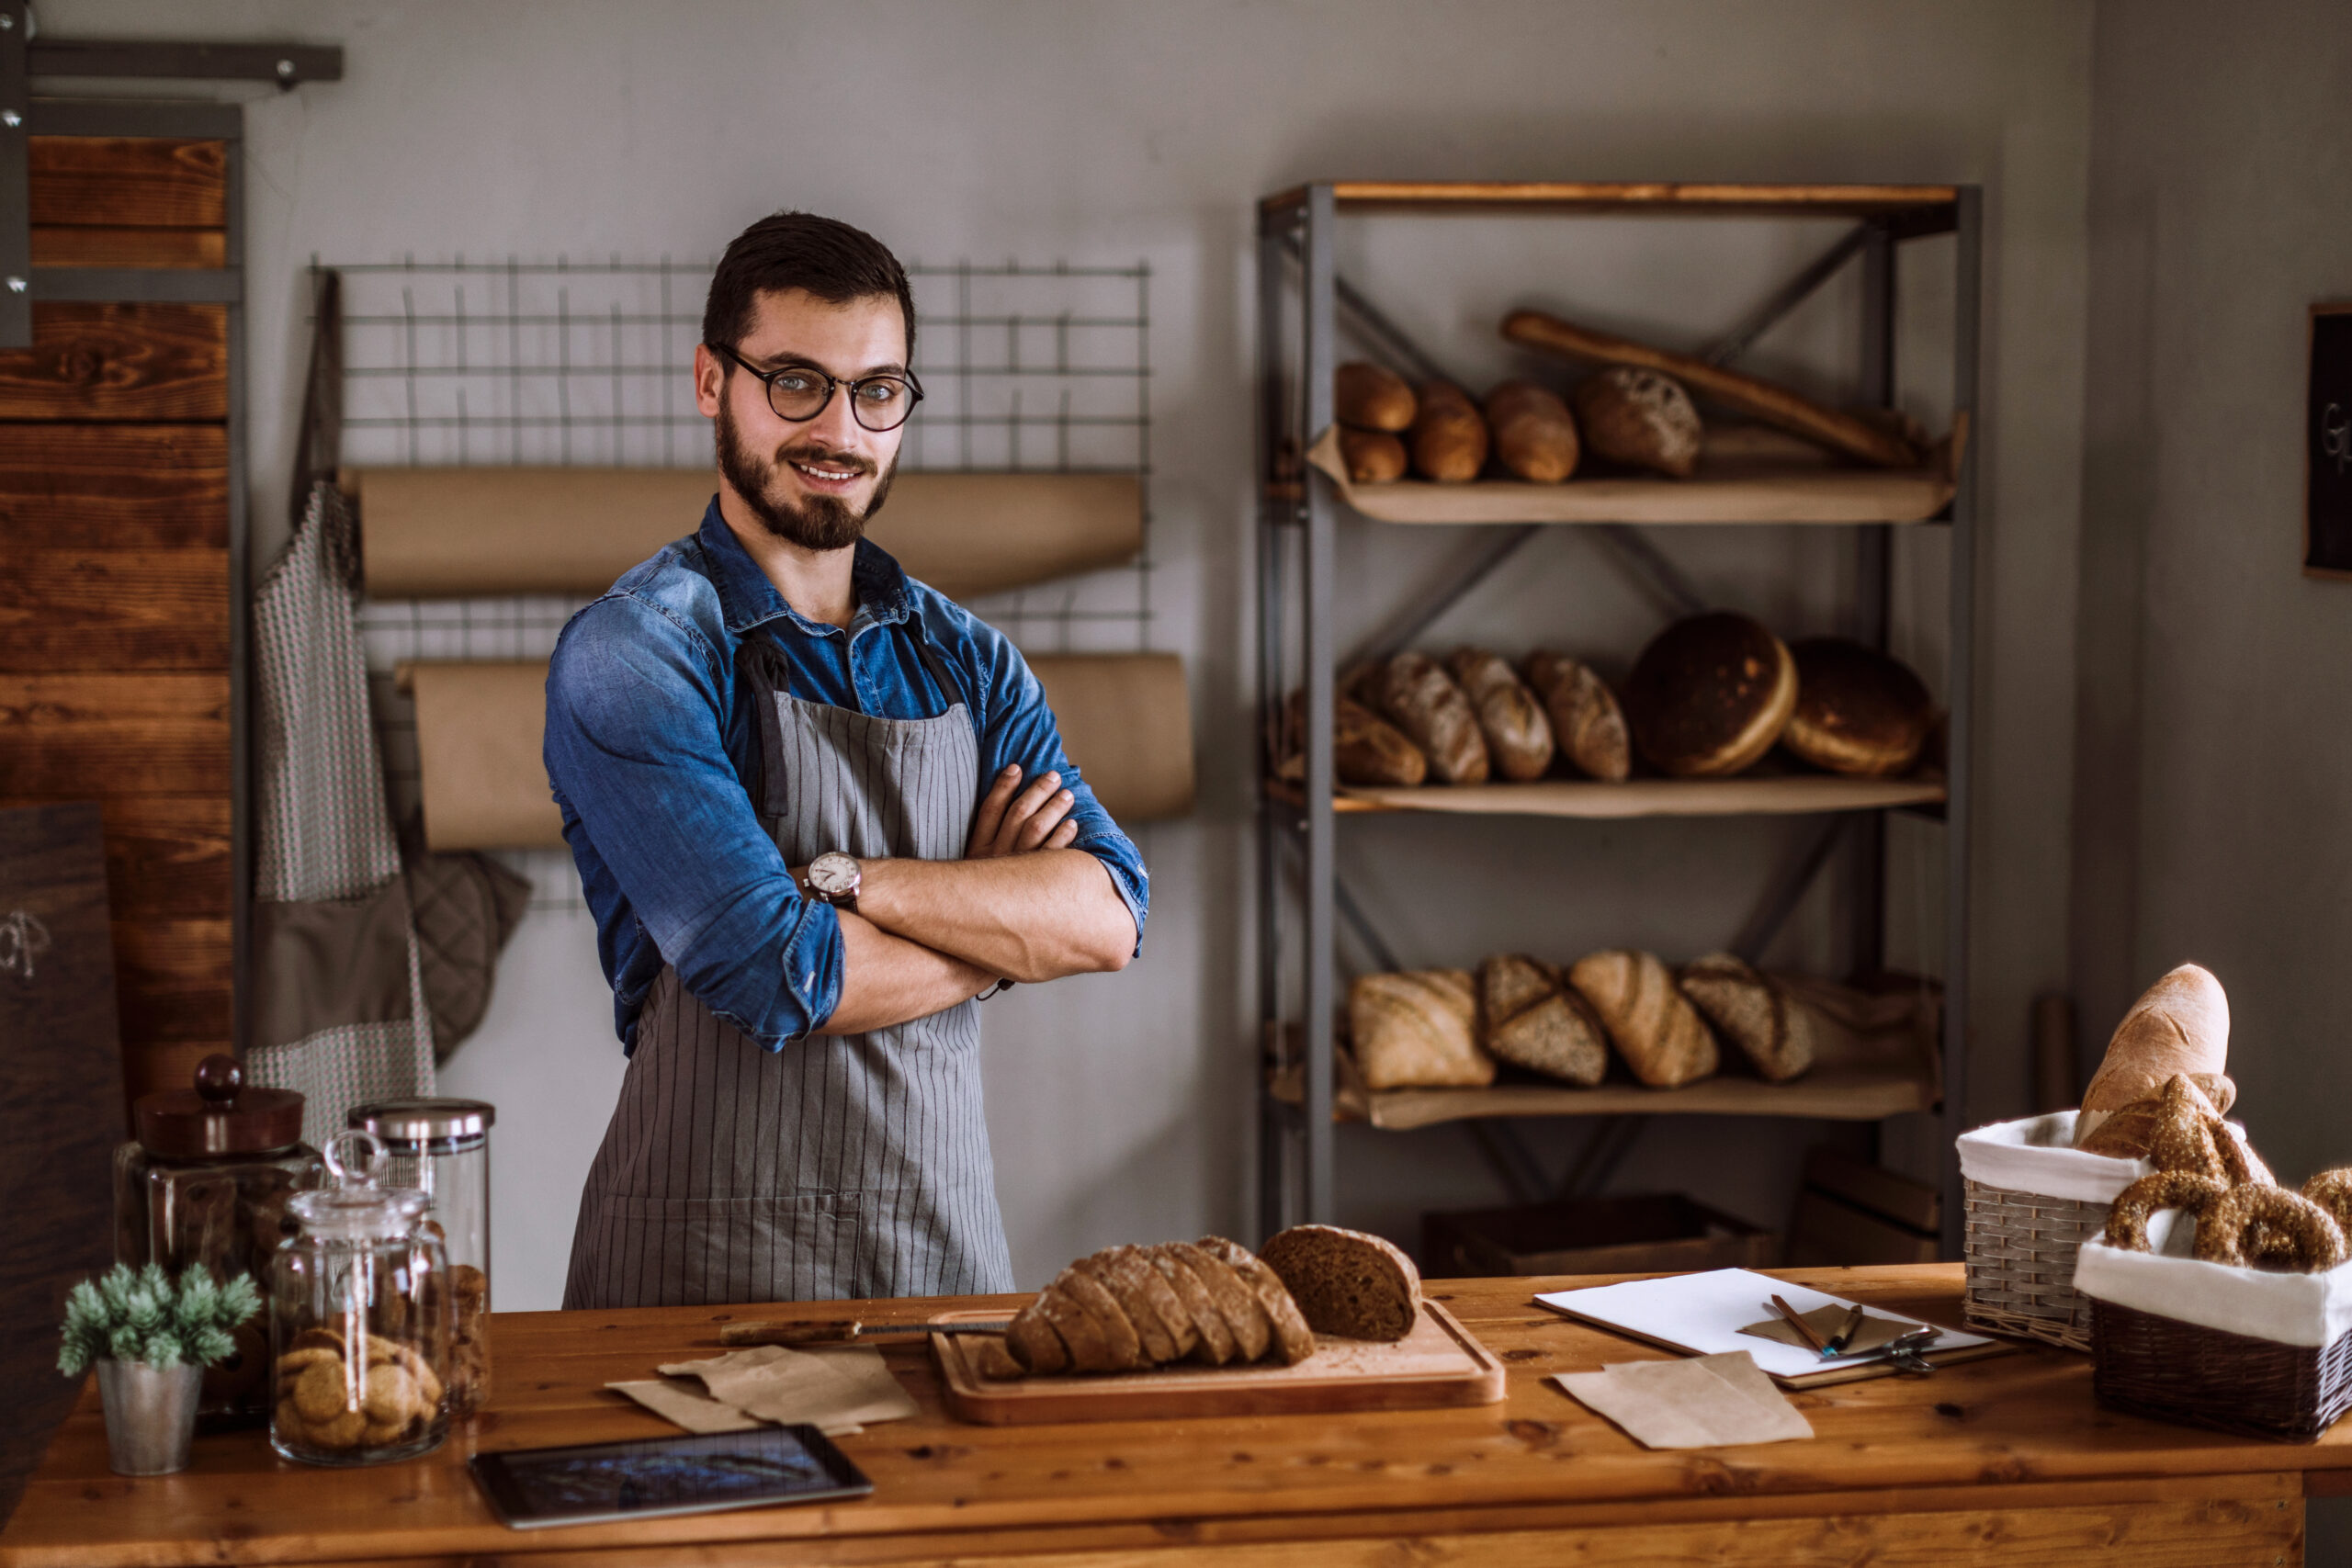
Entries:
{"type": "Polygon", "coordinates": [[[1651,637],[1625,682],[1632,741],[1663,773],[1719,778],[1771,750],[1797,708],[1797,661],[1729,609],[1651,637]]]}

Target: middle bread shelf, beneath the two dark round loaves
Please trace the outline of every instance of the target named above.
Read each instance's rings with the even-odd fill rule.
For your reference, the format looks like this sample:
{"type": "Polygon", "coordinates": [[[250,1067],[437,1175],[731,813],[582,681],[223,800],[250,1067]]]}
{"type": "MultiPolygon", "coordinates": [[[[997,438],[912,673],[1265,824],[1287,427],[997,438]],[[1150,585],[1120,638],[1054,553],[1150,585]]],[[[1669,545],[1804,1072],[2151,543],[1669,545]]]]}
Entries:
{"type": "MultiPolygon", "coordinates": [[[[1268,785],[1275,799],[1305,804],[1305,792],[1287,780],[1268,785]]],[[[1534,783],[1418,785],[1376,790],[1341,785],[1334,811],[1444,811],[1454,816],[1806,816],[1820,811],[1889,811],[1893,806],[1940,806],[1940,773],[1912,778],[1844,778],[1837,773],[1766,773],[1738,778],[1538,778],[1534,783]]]]}

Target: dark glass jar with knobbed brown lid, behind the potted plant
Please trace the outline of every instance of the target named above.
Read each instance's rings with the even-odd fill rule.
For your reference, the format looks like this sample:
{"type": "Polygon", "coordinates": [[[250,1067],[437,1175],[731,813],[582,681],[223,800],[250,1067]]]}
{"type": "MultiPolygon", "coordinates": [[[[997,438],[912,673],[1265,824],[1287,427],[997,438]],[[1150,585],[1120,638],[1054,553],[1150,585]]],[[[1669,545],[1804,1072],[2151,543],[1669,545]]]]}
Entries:
{"type": "MultiPolygon", "coordinates": [[[[136,1138],[115,1150],[115,1262],[174,1274],[202,1262],[221,1284],[252,1274],[266,1291],[270,1255],[294,1232],[287,1201],[322,1173],[301,1107],[292,1088],[247,1088],[233,1056],[207,1056],[191,1088],[139,1095],[136,1138]]],[[[209,1427],[270,1413],[268,1324],[235,1338],[235,1354],[205,1368],[198,1418],[209,1427]]]]}

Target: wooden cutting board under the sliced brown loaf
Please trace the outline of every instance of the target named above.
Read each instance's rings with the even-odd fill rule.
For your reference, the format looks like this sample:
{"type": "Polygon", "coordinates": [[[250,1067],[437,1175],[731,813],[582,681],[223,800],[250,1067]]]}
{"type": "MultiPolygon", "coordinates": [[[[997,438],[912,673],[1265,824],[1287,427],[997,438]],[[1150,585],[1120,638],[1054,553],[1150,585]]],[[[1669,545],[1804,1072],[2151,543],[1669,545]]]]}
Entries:
{"type": "MultiPolygon", "coordinates": [[[[934,1324],[983,1321],[995,1312],[943,1312],[934,1324]]],[[[983,1427],[1065,1420],[1162,1420],[1171,1415],[1291,1415],[1329,1410],[1423,1410],[1503,1399],[1503,1363],[1439,1302],[1421,1302],[1414,1333],[1395,1345],[1317,1335],[1298,1366],[1167,1366],[1150,1373],[993,1382],[971,1352],[978,1340],[931,1335],[948,1408],[983,1427]]]]}

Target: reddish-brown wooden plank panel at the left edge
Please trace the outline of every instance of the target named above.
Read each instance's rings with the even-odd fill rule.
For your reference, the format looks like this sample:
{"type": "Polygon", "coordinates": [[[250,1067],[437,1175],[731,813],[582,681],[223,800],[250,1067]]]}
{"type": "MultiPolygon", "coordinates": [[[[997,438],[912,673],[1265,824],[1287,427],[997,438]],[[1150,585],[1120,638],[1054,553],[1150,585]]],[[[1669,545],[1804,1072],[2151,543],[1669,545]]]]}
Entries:
{"type": "MultiPolygon", "coordinates": [[[[226,143],[31,162],[35,268],[226,263],[226,143]]],[[[228,308],[35,303],[0,353],[0,806],[103,811],[129,1095],[230,1048],[228,592],[228,308]]]]}

